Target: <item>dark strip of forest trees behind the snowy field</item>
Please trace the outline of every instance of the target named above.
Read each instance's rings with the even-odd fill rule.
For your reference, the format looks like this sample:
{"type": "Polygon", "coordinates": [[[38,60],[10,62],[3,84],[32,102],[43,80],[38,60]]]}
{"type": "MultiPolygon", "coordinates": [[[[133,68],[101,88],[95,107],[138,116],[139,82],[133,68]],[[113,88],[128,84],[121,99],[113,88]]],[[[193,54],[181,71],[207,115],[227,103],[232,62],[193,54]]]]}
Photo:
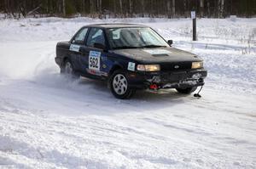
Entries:
{"type": "Polygon", "coordinates": [[[141,16],[188,16],[190,10],[198,10],[201,17],[223,18],[227,14],[241,17],[256,15],[256,0],[0,0],[0,12],[13,18],[29,14],[47,14],[63,16],[68,14],[89,14],[113,17],[141,14],[141,16]]]}

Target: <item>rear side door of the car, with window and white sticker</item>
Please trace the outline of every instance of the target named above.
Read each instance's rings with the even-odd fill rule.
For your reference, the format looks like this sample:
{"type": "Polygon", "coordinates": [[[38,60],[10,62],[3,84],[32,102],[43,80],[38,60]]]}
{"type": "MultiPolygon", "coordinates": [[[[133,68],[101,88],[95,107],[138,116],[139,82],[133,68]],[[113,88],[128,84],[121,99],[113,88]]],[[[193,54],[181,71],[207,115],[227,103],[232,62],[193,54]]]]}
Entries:
{"type": "Polygon", "coordinates": [[[83,54],[82,50],[85,46],[84,41],[85,37],[88,32],[88,27],[84,27],[80,29],[76,35],[73,37],[69,50],[70,50],[70,55],[71,55],[71,61],[73,63],[74,69],[81,71],[82,65],[80,63],[80,56],[83,54]]]}

